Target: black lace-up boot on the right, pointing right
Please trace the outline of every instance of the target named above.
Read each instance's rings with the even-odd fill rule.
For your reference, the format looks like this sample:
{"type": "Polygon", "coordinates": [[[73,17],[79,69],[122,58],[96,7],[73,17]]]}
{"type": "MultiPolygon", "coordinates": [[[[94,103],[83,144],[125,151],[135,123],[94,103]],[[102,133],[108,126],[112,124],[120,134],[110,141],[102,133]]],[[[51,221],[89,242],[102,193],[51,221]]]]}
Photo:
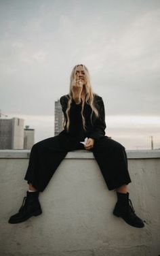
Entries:
{"type": "Polygon", "coordinates": [[[127,224],[133,227],[144,227],[144,222],[135,213],[132,202],[129,199],[129,193],[117,192],[117,198],[113,214],[121,217],[127,224]]]}

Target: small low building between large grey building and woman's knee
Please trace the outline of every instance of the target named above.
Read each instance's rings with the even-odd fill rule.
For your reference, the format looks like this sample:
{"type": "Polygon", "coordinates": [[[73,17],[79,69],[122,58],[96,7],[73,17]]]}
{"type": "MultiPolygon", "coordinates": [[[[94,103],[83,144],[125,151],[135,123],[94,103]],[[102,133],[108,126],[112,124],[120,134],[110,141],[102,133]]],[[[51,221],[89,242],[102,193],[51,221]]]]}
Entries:
{"type": "Polygon", "coordinates": [[[35,143],[35,129],[29,129],[26,125],[24,129],[24,149],[31,149],[35,143]]]}

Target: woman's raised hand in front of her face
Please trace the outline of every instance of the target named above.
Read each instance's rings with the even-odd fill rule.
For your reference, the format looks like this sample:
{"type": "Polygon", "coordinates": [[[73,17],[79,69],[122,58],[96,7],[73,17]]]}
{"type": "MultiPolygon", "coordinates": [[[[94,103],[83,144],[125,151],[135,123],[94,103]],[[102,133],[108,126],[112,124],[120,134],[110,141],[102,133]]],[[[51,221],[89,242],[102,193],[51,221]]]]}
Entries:
{"type": "Polygon", "coordinates": [[[73,81],[73,84],[71,86],[71,91],[73,93],[73,99],[75,100],[75,103],[81,102],[81,92],[83,89],[83,83],[81,82],[81,79],[79,79],[79,76],[77,75],[77,78],[73,81]]]}

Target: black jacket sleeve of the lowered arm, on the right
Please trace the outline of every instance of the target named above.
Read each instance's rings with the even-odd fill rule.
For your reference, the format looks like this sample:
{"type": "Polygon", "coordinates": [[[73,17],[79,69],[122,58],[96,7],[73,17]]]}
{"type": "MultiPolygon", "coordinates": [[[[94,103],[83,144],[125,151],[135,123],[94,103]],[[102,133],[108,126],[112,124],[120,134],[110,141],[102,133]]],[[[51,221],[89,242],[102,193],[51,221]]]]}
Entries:
{"type": "Polygon", "coordinates": [[[94,121],[92,130],[89,131],[89,138],[99,140],[100,138],[104,137],[106,129],[105,109],[102,97],[99,97],[98,101],[96,102],[96,108],[99,116],[98,118],[95,117],[96,119],[94,121]]]}

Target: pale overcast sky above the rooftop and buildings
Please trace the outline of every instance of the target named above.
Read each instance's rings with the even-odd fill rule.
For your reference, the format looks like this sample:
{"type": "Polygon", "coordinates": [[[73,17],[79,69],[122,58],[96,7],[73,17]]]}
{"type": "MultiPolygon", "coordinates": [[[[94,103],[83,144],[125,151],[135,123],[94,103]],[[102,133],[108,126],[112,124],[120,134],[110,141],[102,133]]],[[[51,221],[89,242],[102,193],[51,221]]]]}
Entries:
{"type": "Polygon", "coordinates": [[[35,142],[54,135],[54,101],[73,67],[89,69],[106,135],[160,148],[160,1],[0,0],[0,109],[35,142]]]}

